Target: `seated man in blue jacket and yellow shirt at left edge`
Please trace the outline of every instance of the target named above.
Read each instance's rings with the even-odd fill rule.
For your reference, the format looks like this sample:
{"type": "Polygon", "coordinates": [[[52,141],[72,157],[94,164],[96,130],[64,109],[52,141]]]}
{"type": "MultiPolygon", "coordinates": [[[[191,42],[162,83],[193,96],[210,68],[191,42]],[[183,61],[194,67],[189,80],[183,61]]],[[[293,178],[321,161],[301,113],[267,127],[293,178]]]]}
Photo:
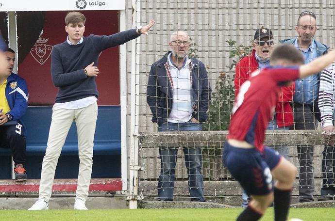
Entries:
{"type": "Polygon", "coordinates": [[[27,180],[23,164],[26,162],[26,130],[20,118],[27,111],[28,89],[24,79],[14,74],[15,51],[5,52],[8,61],[0,72],[0,147],[11,148],[15,163],[15,181],[27,180]]]}

